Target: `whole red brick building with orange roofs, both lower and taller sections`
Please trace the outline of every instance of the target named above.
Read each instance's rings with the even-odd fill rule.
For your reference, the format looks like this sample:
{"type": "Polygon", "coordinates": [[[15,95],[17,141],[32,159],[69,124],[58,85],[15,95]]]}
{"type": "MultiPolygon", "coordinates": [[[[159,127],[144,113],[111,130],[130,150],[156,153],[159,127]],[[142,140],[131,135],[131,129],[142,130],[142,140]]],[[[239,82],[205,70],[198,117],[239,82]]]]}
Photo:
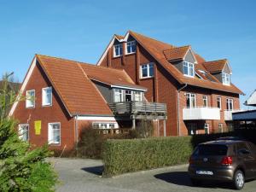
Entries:
{"type": "Polygon", "coordinates": [[[72,149],[84,127],[119,133],[141,119],[153,120],[156,136],[226,131],[242,94],[231,73],[227,60],[127,32],[113,36],[97,66],[35,55],[20,88],[26,100],[10,115],[22,139],[53,149],[72,149]]]}

